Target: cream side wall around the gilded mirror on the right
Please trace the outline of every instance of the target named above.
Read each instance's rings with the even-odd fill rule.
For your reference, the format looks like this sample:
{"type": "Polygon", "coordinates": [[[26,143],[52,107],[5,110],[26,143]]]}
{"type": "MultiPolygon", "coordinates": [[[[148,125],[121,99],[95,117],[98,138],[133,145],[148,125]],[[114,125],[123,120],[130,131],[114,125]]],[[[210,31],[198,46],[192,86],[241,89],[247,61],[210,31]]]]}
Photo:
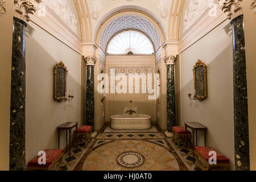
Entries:
{"type": "MultiPolygon", "coordinates": [[[[176,76],[175,81],[180,81],[180,92],[176,93],[176,98],[180,96],[180,125],[199,122],[206,126],[207,146],[227,156],[234,169],[232,43],[232,28],[226,20],[179,55],[180,80],[176,76]],[[188,88],[193,90],[192,68],[198,59],[208,65],[208,98],[205,101],[188,98],[188,88]]],[[[199,133],[199,145],[204,145],[203,139],[203,134],[199,133]]]]}

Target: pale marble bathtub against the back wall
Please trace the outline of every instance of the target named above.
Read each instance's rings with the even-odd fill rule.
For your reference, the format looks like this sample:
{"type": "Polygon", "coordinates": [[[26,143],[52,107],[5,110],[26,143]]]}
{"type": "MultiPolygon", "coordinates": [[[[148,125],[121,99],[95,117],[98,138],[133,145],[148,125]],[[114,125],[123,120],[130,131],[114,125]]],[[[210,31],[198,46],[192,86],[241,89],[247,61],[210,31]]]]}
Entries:
{"type": "Polygon", "coordinates": [[[112,115],[110,127],[114,130],[147,130],[151,128],[151,116],[146,114],[112,115]]]}

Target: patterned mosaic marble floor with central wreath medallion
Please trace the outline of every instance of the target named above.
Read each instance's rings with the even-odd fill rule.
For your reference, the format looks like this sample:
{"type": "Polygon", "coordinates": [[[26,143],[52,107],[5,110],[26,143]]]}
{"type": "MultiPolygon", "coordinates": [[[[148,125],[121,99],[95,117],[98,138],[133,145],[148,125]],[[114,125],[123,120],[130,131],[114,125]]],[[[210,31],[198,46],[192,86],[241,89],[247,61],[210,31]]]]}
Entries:
{"type": "MultiPolygon", "coordinates": [[[[100,133],[78,150],[64,155],[61,169],[67,171],[187,171],[194,170],[193,152],[179,148],[160,132],[100,133]]],[[[54,167],[52,168],[54,169],[54,167]]]]}

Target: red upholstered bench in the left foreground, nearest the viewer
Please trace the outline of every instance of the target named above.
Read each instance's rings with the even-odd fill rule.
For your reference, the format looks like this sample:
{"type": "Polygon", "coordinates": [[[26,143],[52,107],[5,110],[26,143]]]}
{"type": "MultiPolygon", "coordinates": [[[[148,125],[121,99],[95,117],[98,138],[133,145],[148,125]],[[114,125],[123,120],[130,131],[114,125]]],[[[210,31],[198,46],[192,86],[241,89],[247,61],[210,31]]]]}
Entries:
{"type": "Polygon", "coordinates": [[[60,169],[62,163],[64,151],[62,149],[47,149],[46,152],[46,164],[39,164],[38,159],[40,156],[36,156],[28,163],[28,171],[49,171],[51,167],[60,160],[56,170],[60,169]]]}

